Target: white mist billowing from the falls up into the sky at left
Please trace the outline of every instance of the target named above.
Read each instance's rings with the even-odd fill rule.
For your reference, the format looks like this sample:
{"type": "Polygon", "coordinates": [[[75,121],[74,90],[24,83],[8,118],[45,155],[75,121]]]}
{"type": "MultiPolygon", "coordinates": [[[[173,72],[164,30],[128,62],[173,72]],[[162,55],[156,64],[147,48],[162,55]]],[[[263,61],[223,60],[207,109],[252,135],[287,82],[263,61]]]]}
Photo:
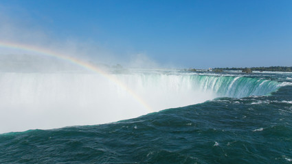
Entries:
{"type": "Polygon", "coordinates": [[[23,21],[1,10],[0,41],[74,57],[102,74],[53,55],[0,46],[0,133],[104,124],[214,98],[177,75],[155,72],[161,64],[146,52],[60,39],[23,21]]]}

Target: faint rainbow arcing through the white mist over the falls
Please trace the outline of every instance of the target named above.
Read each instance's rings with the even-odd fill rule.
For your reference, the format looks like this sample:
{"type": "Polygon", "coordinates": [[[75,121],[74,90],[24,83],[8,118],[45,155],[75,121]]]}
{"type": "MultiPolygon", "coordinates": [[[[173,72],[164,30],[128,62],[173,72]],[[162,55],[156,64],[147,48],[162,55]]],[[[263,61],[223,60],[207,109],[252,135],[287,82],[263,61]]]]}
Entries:
{"type": "Polygon", "coordinates": [[[64,61],[70,62],[71,64],[75,64],[78,66],[81,66],[82,68],[85,68],[87,70],[90,70],[91,72],[96,72],[98,74],[101,74],[106,79],[109,79],[109,81],[115,83],[116,85],[120,86],[123,90],[128,92],[128,94],[131,94],[135,100],[137,100],[145,109],[148,110],[148,112],[152,113],[154,112],[153,109],[142,99],[140,98],[131,88],[127,87],[124,83],[113,77],[111,74],[107,74],[100,68],[94,66],[93,64],[90,64],[86,61],[82,61],[81,59],[78,59],[76,57],[71,57],[69,55],[64,55],[62,53],[57,53],[55,51],[51,51],[49,49],[44,49],[43,47],[37,47],[33,45],[28,44],[19,44],[15,42],[2,42],[0,41],[0,47],[8,48],[8,49],[16,49],[16,50],[22,50],[22,51],[29,51],[32,53],[38,53],[42,55],[48,55],[52,57],[56,57],[58,59],[62,59],[64,61]]]}

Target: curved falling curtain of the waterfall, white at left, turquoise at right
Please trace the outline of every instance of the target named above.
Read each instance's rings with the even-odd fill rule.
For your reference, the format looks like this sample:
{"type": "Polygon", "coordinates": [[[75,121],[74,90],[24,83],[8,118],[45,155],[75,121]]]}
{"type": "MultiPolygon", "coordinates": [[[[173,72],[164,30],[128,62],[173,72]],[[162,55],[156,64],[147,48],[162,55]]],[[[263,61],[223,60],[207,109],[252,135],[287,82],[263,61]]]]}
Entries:
{"type": "Polygon", "coordinates": [[[90,72],[1,72],[0,123],[8,126],[0,133],[116,122],[218,97],[262,96],[280,86],[266,79],[180,70],[109,73],[119,83],[90,72]]]}

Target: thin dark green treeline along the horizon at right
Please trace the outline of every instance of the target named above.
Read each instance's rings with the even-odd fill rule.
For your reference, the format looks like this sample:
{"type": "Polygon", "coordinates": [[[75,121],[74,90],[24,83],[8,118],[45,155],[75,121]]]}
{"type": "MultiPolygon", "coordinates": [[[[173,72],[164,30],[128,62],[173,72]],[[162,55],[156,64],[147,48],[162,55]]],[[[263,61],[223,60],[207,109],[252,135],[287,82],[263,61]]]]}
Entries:
{"type": "MultiPolygon", "coordinates": [[[[214,70],[247,70],[247,68],[213,68],[214,70]]],[[[270,66],[270,67],[251,67],[250,70],[258,71],[279,71],[279,72],[292,72],[291,67],[284,66],[270,66]]]]}

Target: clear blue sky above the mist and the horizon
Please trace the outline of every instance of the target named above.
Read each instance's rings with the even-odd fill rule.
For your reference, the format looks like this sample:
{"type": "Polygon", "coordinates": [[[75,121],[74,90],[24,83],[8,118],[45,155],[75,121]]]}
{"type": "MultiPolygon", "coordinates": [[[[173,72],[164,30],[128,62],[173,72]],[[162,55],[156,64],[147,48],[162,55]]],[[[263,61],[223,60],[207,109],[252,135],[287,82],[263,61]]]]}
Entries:
{"type": "Polygon", "coordinates": [[[292,1],[1,0],[0,40],[179,68],[292,66],[292,1]]]}

